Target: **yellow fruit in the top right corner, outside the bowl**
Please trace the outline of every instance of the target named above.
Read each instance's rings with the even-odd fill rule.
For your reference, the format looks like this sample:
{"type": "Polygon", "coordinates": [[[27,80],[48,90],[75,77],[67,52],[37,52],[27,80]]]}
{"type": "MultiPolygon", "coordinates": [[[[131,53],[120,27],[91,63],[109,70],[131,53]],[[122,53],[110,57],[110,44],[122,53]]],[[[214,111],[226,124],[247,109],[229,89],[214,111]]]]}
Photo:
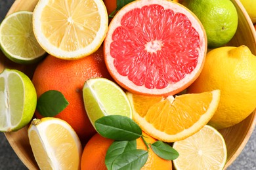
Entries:
{"type": "Polygon", "coordinates": [[[256,1],[255,0],[240,0],[244,5],[245,10],[249,14],[253,24],[256,24],[256,1]]]}

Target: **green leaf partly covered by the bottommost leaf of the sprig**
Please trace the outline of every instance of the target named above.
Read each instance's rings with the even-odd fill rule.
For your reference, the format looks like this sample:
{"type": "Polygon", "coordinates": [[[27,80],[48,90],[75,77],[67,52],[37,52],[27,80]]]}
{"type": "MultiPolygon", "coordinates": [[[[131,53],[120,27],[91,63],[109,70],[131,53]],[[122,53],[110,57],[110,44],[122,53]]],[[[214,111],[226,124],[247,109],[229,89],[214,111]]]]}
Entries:
{"type": "Polygon", "coordinates": [[[114,141],[108,148],[105,157],[105,164],[107,169],[111,169],[112,163],[117,158],[117,156],[123,154],[123,152],[129,150],[136,150],[137,142],[136,140],[133,141],[114,141]]]}

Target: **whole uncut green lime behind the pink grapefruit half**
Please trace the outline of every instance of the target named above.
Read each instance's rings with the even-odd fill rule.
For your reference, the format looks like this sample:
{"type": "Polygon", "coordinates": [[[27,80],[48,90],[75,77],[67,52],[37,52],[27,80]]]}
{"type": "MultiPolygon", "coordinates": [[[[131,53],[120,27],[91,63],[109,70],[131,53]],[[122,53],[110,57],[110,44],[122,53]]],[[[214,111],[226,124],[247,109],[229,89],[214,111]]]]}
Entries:
{"type": "Polygon", "coordinates": [[[230,0],[184,0],[202,22],[208,47],[217,48],[229,42],[238,27],[238,13],[230,0]]]}

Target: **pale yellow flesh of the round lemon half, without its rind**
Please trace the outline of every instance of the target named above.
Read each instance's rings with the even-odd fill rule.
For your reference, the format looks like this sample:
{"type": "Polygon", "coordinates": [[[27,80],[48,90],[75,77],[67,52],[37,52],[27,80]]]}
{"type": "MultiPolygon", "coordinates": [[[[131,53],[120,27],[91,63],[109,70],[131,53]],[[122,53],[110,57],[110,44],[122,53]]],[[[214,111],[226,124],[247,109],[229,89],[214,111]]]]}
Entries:
{"type": "Polygon", "coordinates": [[[52,1],[43,9],[43,34],[54,46],[75,51],[95,39],[100,29],[100,14],[93,0],[83,1],[52,1]]]}

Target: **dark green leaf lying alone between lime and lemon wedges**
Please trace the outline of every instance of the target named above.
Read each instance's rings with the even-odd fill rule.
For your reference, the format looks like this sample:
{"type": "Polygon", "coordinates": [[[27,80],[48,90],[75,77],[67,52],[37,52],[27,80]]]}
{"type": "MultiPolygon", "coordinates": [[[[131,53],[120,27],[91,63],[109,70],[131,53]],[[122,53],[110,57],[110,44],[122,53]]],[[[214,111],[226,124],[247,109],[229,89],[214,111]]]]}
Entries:
{"type": "Polygon", "coordinates": [[[64,110],[68,104],[61,92],[49,90],[37,99],[37,110],[44,117],[53,117],[64,110]]]}

